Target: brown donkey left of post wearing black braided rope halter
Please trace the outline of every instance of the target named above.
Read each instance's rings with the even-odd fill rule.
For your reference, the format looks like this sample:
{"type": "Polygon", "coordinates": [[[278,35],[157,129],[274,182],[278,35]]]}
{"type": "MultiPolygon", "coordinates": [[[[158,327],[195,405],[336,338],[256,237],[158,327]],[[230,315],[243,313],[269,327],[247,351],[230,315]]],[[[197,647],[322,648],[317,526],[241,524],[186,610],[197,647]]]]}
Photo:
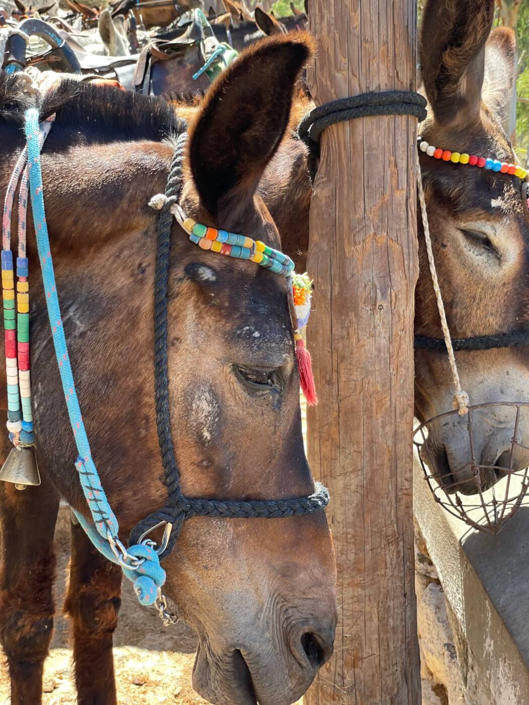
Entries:
{"type": "MultiPolygon", "coordinates": [[[[256,188],[261,182],[266,191],[268,183],[281,210],[281,153],[283,159],[291,154],[284,132],[293,87],[311,52],[307,35],[265,40],[212,86],[189,128],[181,201],[188,215],[280,247],[256,188]]],[[[4,190],[23,146],[26,100],[16,77],[0,78],[4,190]]],[[[172,154],[166,138],[177,122],[163,100],[68,82],[44,102],[43,116],[53,112],[42,169],[64,328],[93,456],[125,539],[166,495],[154,419],[156,215],[147,203],[164,190],[172,154]]],[[[20,492],[0,483],[0,637],[13,705],[41,698],[54,615],[59,496],[87,511],[73,468],[35,238],[28,235],[42,486],[20,492]]],[[[285,278],[203,252],[176,224],[172,238],[169,394],[183,492],[205,498],[310,494],[285,278]]],[[[4,460],[7,437],[0,443],[4,460]]],[[[121,572],[78,526],[72,542],[66,610],[79,702],[111,705],[121,572]]],[[[199,635],[193,684],[203,697],[219,704],[287,704],[329,658],[335,567],[323,514],[266,522],[195,518],[186,522],[164,568],[169,607],[199,635]]]]}

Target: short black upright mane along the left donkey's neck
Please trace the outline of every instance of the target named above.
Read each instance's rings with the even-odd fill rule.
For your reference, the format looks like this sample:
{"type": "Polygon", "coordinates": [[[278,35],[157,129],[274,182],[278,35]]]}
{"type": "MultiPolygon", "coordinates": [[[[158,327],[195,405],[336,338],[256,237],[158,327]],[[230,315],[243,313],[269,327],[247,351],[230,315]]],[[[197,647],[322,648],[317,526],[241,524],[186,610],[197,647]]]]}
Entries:
{"type": "MultiPolygon", "coordinates": [[[[16,75],[0,74],[0,120],[21,125],[32,97],[16,75]]],[[[55,124],[83,130],[90,142],[152,140],[160,142],[181,131],[174,106],[162,97],[144,96],[102,85],[64,78],[40,106],[40,118],[56,113],[55,124]]]]}

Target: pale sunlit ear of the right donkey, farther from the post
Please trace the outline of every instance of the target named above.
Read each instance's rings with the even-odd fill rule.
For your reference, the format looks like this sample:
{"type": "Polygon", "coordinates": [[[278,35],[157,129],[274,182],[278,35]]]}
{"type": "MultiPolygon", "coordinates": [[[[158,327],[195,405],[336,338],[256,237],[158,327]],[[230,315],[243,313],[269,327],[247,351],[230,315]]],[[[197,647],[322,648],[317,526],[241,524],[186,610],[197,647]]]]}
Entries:
{"type": "Polygon", "coordinates": [[[516,37],[510,27],[492,30],[485,44],[483,100],[501,121],[507,116],[516,78],[516,37]]]}

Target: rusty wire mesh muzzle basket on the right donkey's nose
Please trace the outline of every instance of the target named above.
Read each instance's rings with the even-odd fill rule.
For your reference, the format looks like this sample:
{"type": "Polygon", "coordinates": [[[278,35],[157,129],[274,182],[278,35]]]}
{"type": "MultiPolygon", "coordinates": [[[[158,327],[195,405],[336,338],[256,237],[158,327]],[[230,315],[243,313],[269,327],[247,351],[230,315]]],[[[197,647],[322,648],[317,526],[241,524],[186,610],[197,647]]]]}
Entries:
{"type": "Polygon", "coordinates": [[[413,443],[418,450],[422,472],[435,501],[447,512],[468,526],[494,536],[522,505],[529,489],[529,467],[517,467],[520,463],[516,462],[517,455],[518,458],[525,456],[525,453],[529,455],[529,446],[523,445],[520,428],[523,415],[529,420],[529,402],[491,402],[469,406],[467,417],[458,417],[458,423],[466,423],[468,460],[455,469],[449,466],[447,472],[439,472],[435,451],[428,439],[436,427],[439,429],[439,424],[451,420],[455,423],[456,419],[450,418],[454,415],[458,417],[458,410],[432,417],[414,430],[413,443]],[[476,443],[475,421],[483,410],[494,415],[494,411],[500,409],[505,413],[504,407],[512,409],[512,436],[510,449],[506,451],[509,463],[507,467],[483,465],[477,457],[479,443],[476,443]],[[475,492],[472,492],[473,484],[475,492]]]}

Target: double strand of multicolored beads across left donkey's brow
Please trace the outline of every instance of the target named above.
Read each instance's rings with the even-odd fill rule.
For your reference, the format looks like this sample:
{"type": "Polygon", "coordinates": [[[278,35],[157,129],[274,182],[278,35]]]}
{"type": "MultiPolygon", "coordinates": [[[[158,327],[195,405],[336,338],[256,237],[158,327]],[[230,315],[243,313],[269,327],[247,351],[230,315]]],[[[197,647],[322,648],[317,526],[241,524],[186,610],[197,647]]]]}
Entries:
{"type": "Polygon", "coordinates": [[[236,259],[249,259],[250,262],[255,262],[283,276],[291,276],[293,272],[294,263],[288,255],[274,250],[273,247],[268,247],[260,240],[252,240],[245,235],[209,228],[202,223],[195,222],[192,218],[186,218],[180,224],[188,233],[191,242],[201,247],[202,250],[212,250],[212,252],[219,252],[221,255],[236,259]]]}

